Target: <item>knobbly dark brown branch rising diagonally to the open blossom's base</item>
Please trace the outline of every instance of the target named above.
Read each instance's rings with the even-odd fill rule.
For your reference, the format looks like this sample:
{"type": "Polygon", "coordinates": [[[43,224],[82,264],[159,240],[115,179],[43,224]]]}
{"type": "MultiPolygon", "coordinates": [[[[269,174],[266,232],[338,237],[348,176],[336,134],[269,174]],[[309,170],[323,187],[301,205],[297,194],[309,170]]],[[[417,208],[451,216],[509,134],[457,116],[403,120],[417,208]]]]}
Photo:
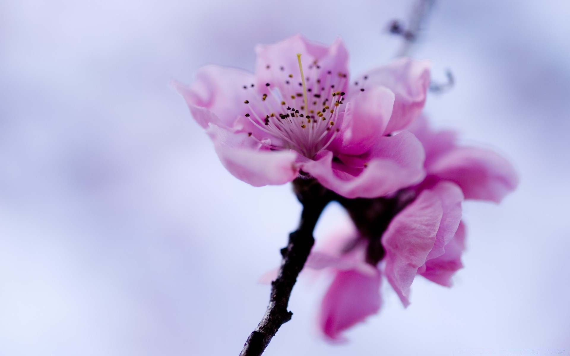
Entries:
{"type": "Polygon", "coordinates": [[[291,320],[293,313],[287,310],[291,290],[315,243],[313,231],[317,220],[333,197],[333,193],[315,179],[297,178],[293,187],[303,204],[299,228],[291,232],[287,247],[281,249],[283,260],[277,279],[271,283],[269,305],[259,325],[247,338],[240,356],[261,355],[280,326],[291,320]]]}

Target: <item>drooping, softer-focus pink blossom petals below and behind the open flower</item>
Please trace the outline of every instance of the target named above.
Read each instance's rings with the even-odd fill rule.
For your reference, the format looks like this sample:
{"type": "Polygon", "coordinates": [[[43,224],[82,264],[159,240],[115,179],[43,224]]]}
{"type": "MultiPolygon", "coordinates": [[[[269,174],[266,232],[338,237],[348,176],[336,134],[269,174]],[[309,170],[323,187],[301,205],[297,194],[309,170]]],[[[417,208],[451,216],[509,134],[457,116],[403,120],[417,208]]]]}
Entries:
{"type": "Polygon", "coordinates": [[[426,149],[427,177],[410,187],[417,197],[394,216],[381,236],[361,236],[353,228],[309,257],[307,267],[328,267],[335,274],[319,313],[319,326],[331,339],[340,339],[343,330],[377,312],[382,274],[405,306],[418,274],[450,287],[451,276],[462,268],[465,249],[463,199],[499,202],[518,184],[514,169],[498,154],[457,146],[454,133],[432,132],[424,118],[409,129],[426,149]],[[380,264],[370,264],[365,252],[374,238],[381,239],[385,252],[380,264]]]}

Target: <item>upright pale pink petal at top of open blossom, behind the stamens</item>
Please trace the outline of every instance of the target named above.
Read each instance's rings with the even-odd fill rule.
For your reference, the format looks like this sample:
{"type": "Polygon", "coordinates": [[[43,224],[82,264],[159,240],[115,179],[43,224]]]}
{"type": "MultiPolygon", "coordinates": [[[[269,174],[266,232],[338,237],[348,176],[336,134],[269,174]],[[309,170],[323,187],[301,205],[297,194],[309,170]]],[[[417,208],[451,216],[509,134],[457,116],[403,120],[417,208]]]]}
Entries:
{"type": "MultiPolygon", "coordinates": [[[[331,71],[333,75],[340,72],[348,76],[348,52],[340,38],[331,46],[324,46],[310,42],[302,35],[295,35],[275,44],[260,44],[255,47],[255,54],[257,54],[255,75],[260,90],[263,91],[266,88],[266,83],[270,83],[270,87],[284,85],[289,74],[292,74],[291,81],[296,85],[300,81],[299,63],[296,56],[298,53],[302,54],[304,75],[310,77],[310,83],[307,85],[316,82],[317,79],[325,83],[328,71],[331,71]],[[315,60],[320,67],[316,76],[310,69],[315,60]]],[[[345,91],[346,87],[345,81],[344,86],[338,90],[345,91]]]]}

